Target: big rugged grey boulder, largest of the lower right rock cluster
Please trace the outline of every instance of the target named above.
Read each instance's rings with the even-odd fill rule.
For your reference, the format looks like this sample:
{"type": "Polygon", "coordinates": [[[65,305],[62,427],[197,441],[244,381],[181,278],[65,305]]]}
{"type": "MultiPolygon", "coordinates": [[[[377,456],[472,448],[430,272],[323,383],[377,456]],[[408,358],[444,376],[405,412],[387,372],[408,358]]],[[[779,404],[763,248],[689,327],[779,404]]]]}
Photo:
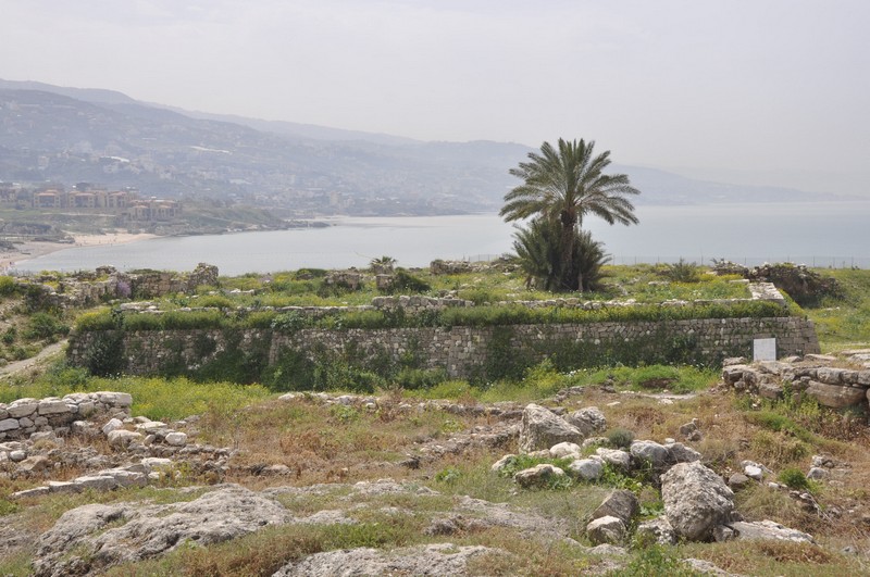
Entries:
{"type": "Polygon", "coordinates": [[[679,463],[661,476],[664,514],[676,535],[691,541],[711,538],[731,519],[734,492],[699,462],[679,463]]]}

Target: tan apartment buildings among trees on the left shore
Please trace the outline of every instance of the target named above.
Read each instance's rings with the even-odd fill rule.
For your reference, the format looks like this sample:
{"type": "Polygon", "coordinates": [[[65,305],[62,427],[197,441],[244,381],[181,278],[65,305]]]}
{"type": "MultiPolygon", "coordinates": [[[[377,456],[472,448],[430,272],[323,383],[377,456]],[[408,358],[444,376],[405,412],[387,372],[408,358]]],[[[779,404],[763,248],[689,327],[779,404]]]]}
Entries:
{"type": "Polygon", "coordinates": [[[135,188],[107,190],[87,183],[79,183],[71,189],[62,185],[26,187],[0,183],[0,204],[37,211],[94,211],[130,222],[172,221],[182,213],[182,203],[177,200],[142,198],[135,188]]]}

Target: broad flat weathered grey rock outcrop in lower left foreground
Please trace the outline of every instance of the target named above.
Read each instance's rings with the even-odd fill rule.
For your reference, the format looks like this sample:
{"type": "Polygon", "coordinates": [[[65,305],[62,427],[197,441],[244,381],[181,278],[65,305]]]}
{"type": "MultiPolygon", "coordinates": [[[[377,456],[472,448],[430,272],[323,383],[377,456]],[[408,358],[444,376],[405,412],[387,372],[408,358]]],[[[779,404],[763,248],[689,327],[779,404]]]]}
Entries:
{"type": "Polygon", "coordinates": [[[34,574],[98,572],[165,553],[187,541],[216,543],[290,519],[276,501],[238,486],[170,505],[84,505],[61,515],[39,537],[34,574]]]}

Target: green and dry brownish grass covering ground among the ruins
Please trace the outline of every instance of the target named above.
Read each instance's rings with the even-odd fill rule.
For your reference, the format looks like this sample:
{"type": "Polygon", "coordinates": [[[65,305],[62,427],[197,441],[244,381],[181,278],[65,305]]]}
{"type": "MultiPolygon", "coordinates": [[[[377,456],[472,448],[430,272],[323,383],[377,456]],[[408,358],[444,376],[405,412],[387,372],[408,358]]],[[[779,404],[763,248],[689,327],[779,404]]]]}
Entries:
{"type": "MultiPolygon", "coordinates": [[[[700,275],[699,283],[686,283],[685,286],[676,283],[648,285],[649,280],[660,280],[656,267],[613,267],[612,272],[612,287],[631,290],[638,300],[651,299],[655,293],[661,291],[663,294],[666,290],[670,291],[668,294],[678,294],[678,291],[691,294],[694,290],[707,290],[706,294],[711,294],[739,287],[708,280],[706,275],[700,275]]],[[[506,298],[532,300],[550,297],[526,293],[519,278],[500,273],[471,273],[449,278],[431,277],[425,272],[413,274],[432,284],[433,293],[448,287],[481,303],[506,298]],[[501,276],[504,279],[496,278],[501,276]]],[[[826,350],[867,346],[870,330],[863,323],[870,316],[867,312],[870,275],[853,271],[831,274],[846,287],[846,299],[826,302],[820,309],[809,309],[806,314],[820,327],[826,350]],[[820,323],[817,317],[823,321],[820,323]]],[[[256,299],[302,302],[309,298],[312,287],[316,289],[323,275],[314,272],[311,278],[301,276],[284,273],[274,275],[270,283],[254,276],[224,279],[223,283],[225,287],[235,284],[244,290],[261,291],[244,297],[249,302],[256,299]]],[[[372,288],[366,288],[352,294],[324,293],[315,296],[314,300],[340,304],[352,303],[358,298],[364,302],[374,294],[372,288]]],[[[208,297],[213,304],[227,304],[223,296],[208,297]]],[[[181,306],[183,302],[178,299],[174,305],[181,306]]],[[[266,527],[241,539],[208,548],[182,544],[163,557],[116,566],[110,569],[111,575],[271,575],[288,561],[319,551],[362,545],[391,550],[444,541],[444,537],[427,536],[423,529],[434,518],[455,514],[457,504],[463,502],[465,496],[506,503],[515,512],[534,511],[551,519],[554,526],[564,527],[567,535],[580,541],[584,539],[588,516],[610,487],[636,490],[642,510],[647,514],[660,511],[655,487],[634,477],[610,475],[601,484],[572,484],[559,490],[518,489],[512,479],[489,469],[498,457],[515,450],[512,444],[446,452],[421,459],[419,468],[398,465],[409,454],[421,454],[422,447],[448,446],[453,435],[469,434],[477,430],[475,427],[486,430],[499,425],[498,421],[486,415],[419,411],[417,404],[421,400],[446,398],[467,406],[512,401],[515,404],[510,406],[521,406],[525,402],[551,399],[569,387],[577,389],[560,403],[561,406],[567,411],[598,406],[607,416],[608,436],[616,438],[630,431],[636,439],[663,441],[672,437],[683,440],[679,434],[680,426],[696,418],[704,438],[688,444],[698,450],[705,464],[717,473],[728,476],[739,471],[743,460],[763,463],[773,471],[771,480],[782,478],[791,486],[812,489],[824,510],[823,515],[808,512],[785,490],[750,484],[735,497],[737,510],[748,520],[782,523],[815,535],[824,547],[745,542],[739,545],[681,543],[674,548],[646,548],[633,551],[625,560],[625,567],[613,575],[691,575],[679,563],[680,559],[688,556],[705,559],[723,569],[745,575],[867,574],[870,567],[866,560],[836,552],[846,544],[859,550],[870,548],[870,529],[860,517],[860,512],[870,503],[870,493],[866,489],[870,484],[870,451],[866,449],[870,446],[870,436],[866,421],[793,399],[784,402],[747,401],[731,393],[708,391],[717,380],[716,372],[691,366],[610,366],[561,372],[545,361],[514,380],[471,385],[464,380],[442,378],[413,391],[378,391],[382,400],[375,410],[369,411],[360,406],[328,405],[304,396],[291,402],[279,402],[274,394],[256,385],[197,384],[185,378],[96,378],[61,363],[42,376],[27,375],[13,379],[9,387],[0,389],[0,401],[80,390],[120,390],[133,394],[133,412],[137,415],[161,421],[200,415],[197,442],[238,449],[228,462],[226,480],[252,488],[326,482],[330,485],[322,490],[286,492],[277,499],[298,516],[322,510],[341,510],[357,522],[353,526],[266,527]],[[673,404],[662,404],[658,399],[647,397],[664,390],[703,393],[673,404]],[[811,455],[819,453],[848,464],[848,475],[842,478],[842,486],[821,482],[805,487],[801,484],[811,455]],[[271,464],[287,465],[291,475],[266,477],[256,473],[271,464]],[[430,487],[440,494],[408,492],[363,499],[352,491],[356,481],[384,477],[430,487]],[[831,511],[840,511],[842,517],[831,511]]],[[[64,472],[67,476],[74,474],[75,471],[64,472]]],[[[197,481],[199,479],[191,477],[183,479],[182,485],[197,481]]],[[[26,527],[34,536],[50,527],[64,511],[88,502],[171,502],[201,494],[182,494],[171,488],[146,488],[22,501],[7,499],[11,492],[34,487],[37,482],[37,479],[8,478],[0,481],[0,518],[26,527]]],[[[463,510],[462,515],[475,518],[482,513],[463,510]]],[[[506,527],[460,531],[449,536],[449,542],[456,545],[483,544],[508,552],[475,560],[470,568],[472,574],[576,575],[608,570],[602,562],[588,556],[580,548],[558,539],[530,538],[506,527]]],[[[12,551],[0,561],[0,574],[26,575],[32,556],[32,550],[12,551]]]]}

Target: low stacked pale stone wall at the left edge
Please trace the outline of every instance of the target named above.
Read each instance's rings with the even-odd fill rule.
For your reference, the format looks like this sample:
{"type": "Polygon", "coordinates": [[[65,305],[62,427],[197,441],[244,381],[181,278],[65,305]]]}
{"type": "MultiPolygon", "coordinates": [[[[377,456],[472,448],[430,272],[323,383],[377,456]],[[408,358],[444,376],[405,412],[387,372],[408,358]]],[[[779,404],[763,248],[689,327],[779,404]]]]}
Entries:
{"type": "Polygon", "coordinates": [[[18,399],[0,403],[0,440],[27,438],[34,432],[70,432],[76,421],[95,414],[129,416],[133,398],[126,392],[75,392],[63,399],[18,399]]]}

